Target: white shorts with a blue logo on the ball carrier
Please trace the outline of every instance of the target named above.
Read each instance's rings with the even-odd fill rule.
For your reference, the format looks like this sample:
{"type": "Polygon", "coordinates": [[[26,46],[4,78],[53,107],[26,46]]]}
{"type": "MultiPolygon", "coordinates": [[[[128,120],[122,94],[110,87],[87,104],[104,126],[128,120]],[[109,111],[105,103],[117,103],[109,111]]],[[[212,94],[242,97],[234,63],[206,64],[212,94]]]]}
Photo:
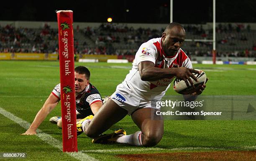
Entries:
{"type": "Polygon", "coordinates": [[[113,100],[120,107],[128,111],[128,115],[131,115],[134,111],[141,108],[155,108],[155,100],[144,100],[133,94],[133,91],[129,87],[125,87],[123,84],[119,84],[116,91],[111,95],[113,100]]]}

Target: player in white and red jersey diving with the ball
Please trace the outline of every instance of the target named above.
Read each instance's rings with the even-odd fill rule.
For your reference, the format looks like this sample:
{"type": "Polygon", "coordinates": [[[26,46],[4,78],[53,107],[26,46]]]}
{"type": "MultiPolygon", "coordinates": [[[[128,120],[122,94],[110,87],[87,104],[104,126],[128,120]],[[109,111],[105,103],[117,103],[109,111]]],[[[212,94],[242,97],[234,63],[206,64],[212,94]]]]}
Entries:
{"type": "MultiPolygon", "coordinates": [[[[77,122],[77,134],[84,132],[94,138],[92,143],[128,143],[134,146],[155,146],[159,143],[164,133],[164,122],[161,115],[156,115],[160,108],[152,102],[161,100],[174,77],[188,85],[188,82],[193,84],[192,79],[197,81],[192,73],[200,74],[192,69],[190,59],[180,48],[184,40],[182,25],[170,23],[161,38],[143,43],[125,80],[92,119],[84,118],[77,122]],[[120,129],[112,134],[100,135],[127,114],[131,115],[140,131],[126,135],[120,129]]],[[[195,100],[205,87],[203,84],[185,100],[192,100],[191,97],[195,100]]]]}

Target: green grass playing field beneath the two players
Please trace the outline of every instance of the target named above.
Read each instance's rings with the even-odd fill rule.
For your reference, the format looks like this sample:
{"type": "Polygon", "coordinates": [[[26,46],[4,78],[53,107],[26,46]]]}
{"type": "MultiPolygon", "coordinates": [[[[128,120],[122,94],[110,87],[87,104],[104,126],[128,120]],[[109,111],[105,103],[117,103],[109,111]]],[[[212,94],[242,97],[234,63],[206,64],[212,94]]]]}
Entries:
{"type": "MultiPolygon", "coordinates": [[[[102,97],[111,95],[131,69],[131,64],[75,63],[75,66],[79,65],[88,67],[91,83],[97,87],[102,97]]],[[[256,95],[256,66],[195,64],[194,68],[204,70],[209,77],[207,88],[202,95],[256,95]]],[[[187,156],[185,160],[189,160],[189,154],[197,155],[198,152],[200,155],[209,156],[203,159],[207,161],[256,160],[256,119],[165,120],[164,136],[157,146],[151,148],[92,144],[90,138],[79,135],[77,140],[80,152],[74,154],[61,151],[61,130],[48,121],[52,116],[60,115],[59,104],[40,125],[41,133],[20,135],[26,131],[28,123],[32,123],[36,113],[58,83],[59,62],[0,61],[0,152],[25,152],[27,157],[20,160],[30,161],[132,161],[136,157],[138,159],[139,154],[150,154],[145,155],[147,158],[141,159],[143,161],[159,160],[159,157],[162,160],[174,160],[171,159],[172,154],[184,154],[187,156]],[[233,158],[228,159],[227,153],[220,153],[223,151],[236,153],[230,153],[233,158]],[[249,151],[250,154],[244,151],[249,151]],[[219,152],[222,158],[214,158],[210,155],[212,152],[219,152]],[[154,153],[158,157],[151,155],[154,153]],[[167,158],[162,156],[166,153],[167,158]],[[123,157],[125,154],[129,155],[123,157]],[[132,154],[138,155],[135,157],[132,154]]],[[[166,95],[178,94],[170,88],[166,95]]],[[[251,105],[256,107],[254,102],[251,105]]],[[[253,115],[256,118],[256,111],[253,115]]],[[[128,134],[138,131],[131,117],[126,116],[106,133],[120,127],[128,134]]]]}

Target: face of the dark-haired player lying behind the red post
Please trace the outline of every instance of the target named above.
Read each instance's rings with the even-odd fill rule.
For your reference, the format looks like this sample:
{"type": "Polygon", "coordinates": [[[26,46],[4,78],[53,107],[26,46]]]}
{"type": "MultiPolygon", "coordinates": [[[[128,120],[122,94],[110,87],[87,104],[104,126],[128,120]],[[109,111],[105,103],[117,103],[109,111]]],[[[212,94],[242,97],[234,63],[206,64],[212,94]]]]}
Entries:
{"type": "Polygon", "coordinates": [[[75,72],[75,91],[81,93],[89,85],[89,80],[86,79],[85,74],[78,74],[75,72]]]}

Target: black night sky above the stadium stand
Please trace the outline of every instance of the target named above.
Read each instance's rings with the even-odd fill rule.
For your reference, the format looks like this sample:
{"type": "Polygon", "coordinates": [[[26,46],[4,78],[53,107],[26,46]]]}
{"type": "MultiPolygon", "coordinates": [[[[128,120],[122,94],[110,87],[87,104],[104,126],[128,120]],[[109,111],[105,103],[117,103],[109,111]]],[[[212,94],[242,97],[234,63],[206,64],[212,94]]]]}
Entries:
{"type": "MultiPolygon", "coordinates": [[[[212,0],[173,0],[173,20],[212,21],[212,0]]],[[[74,22],[169,23],[170,0],[19,0],[1,4],[0,20],[56,21],[55,10],[73,10],[74,22]],[[126,12],[129,9],[129,12],[126,12]]],[[[256,23],[256,0],[216,0],[216,22],[256,23]]]]}

